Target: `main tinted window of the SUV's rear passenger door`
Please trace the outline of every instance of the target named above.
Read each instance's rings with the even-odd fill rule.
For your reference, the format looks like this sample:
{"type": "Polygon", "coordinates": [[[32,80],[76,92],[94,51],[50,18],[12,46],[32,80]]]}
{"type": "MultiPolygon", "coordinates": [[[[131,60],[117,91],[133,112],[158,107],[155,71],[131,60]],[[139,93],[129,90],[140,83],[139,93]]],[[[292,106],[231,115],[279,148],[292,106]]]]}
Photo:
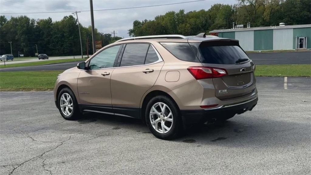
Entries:
{"type": "Polygon", "coordinates": [[[145,63],[149,44],[127,44],[125,46],[120,66],[135,66],[145,63]]]}

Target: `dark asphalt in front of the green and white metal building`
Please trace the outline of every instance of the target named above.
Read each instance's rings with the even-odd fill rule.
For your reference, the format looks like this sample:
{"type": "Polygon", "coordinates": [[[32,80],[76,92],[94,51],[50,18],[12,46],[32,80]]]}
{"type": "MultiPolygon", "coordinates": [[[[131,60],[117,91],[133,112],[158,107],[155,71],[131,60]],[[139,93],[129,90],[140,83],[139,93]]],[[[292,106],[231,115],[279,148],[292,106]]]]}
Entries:
{"type": "Polygon", "coordinates": [[[255,64],[311,64],[311,51],[248,53],[255,64]]]}

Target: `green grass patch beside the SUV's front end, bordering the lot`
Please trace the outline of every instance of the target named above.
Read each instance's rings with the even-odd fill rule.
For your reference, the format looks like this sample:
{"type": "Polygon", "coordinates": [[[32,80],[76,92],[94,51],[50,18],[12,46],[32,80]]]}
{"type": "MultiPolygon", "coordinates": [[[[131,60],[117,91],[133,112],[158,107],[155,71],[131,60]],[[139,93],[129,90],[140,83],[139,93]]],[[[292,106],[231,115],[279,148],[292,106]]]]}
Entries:
{"type": "Polygon", "coordinates": [[[63,71],[1,72],[1,91],[52,90],[57,75],[63,71]]]}

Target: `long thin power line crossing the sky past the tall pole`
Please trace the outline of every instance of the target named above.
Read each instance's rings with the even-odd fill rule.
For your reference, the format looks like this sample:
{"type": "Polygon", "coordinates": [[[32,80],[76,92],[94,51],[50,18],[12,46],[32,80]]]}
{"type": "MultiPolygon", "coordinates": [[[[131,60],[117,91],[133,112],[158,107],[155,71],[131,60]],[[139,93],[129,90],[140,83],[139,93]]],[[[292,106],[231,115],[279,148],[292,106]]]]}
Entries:
{"type": "MultiPolygon", "coordinates": [[[[175,4],[184,4],[190,2],[199,2],[206,0],[196,0],[196,1],[187,1],[187,2],[176,2],[170,4],[159,4],[159,5],[151,5],[151,6],[139,6],[139,7],[126,7],[126,8],[111,8],[111,9],[101,9],[101,10],[93,10],[93,11],[108,11],[108,10],[123,10],[123,9],[133,9],[133,8],[145,8],[145,7],[158,7],[158,6],[167,6],[167,5],[175,5],[175,4]]],[[[34,13],[69,13],[76,11],[61,11],[61,12],[18,12],[18,13],[0,13],[0,14],[34,14],[34,13]]],[[[90,10],[81,10],[80,12],[90,12],[90,10]]]]}

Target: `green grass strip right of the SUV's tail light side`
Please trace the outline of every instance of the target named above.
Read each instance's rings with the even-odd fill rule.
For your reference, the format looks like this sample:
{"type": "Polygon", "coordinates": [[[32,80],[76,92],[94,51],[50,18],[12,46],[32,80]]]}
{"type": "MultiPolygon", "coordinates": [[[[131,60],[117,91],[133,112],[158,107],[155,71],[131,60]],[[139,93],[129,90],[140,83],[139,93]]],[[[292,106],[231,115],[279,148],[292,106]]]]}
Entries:
{"type": "Polygon", "coordinates": [[[256,76],[310,77],[311,64],[256,65],[256,76]]]}

